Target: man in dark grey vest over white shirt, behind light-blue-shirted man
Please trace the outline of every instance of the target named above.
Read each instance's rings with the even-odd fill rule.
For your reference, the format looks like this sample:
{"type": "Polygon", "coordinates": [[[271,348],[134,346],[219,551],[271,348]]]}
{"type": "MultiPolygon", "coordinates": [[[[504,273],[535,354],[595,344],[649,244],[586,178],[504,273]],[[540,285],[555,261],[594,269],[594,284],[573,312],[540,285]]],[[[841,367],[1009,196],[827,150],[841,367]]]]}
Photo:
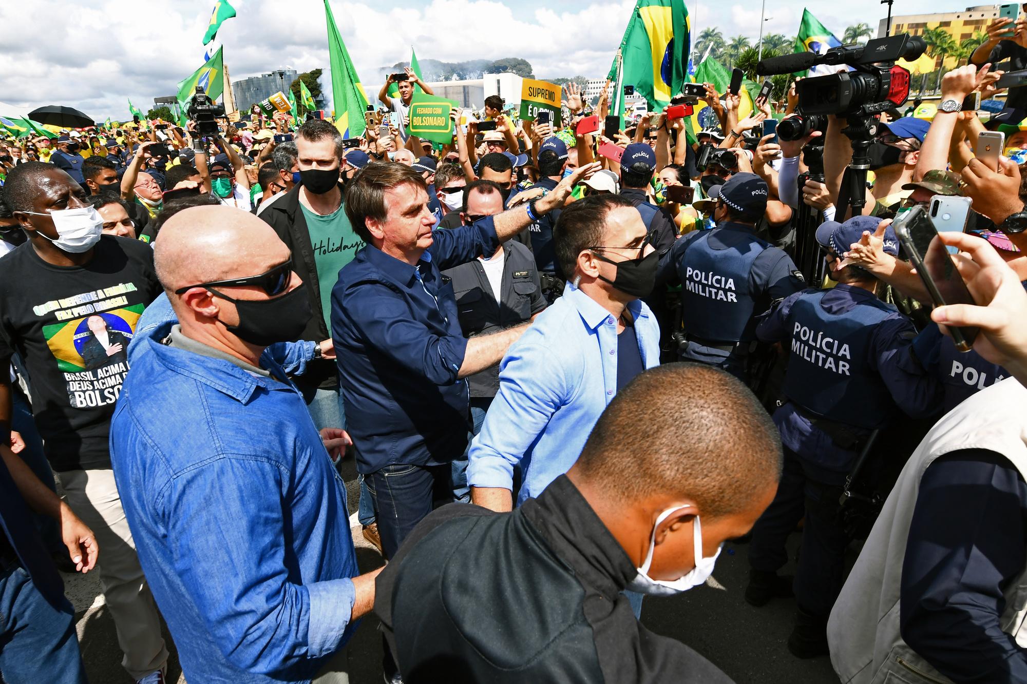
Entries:
{"type": "MultiPolygon", "coordinates": [[[[474,181],[464,190],[460,219],[469,226],[503,211],[502,189],[492,181],[474,181]]],[[[452,279],[457,315],[464,337],[488,335],[519,326],[545,308],[531,250],[517,238],[499,245],[487,257],[443,271],[452,279]]],[[[499,365],[467,378],[470,389],[471,434],[478,434],[489,405],[499,391],[499,365]]],[[[467,448],[470,448],[468,440],[467,448]]],[[[453,461],[454,498],[470,500],[467,487],[467,455],[453,461]]]]}

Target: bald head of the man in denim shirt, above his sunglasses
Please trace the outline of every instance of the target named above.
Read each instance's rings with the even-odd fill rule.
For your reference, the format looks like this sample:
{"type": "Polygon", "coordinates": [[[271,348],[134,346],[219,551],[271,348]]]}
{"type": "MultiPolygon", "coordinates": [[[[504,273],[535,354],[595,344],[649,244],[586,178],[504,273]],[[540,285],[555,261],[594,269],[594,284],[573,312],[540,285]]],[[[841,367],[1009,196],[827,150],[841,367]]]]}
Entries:
{"type": "Polygon", "coordinates": [[[154,242],[157,277],[175,304],[186,286],[259,275],[289,259],[268,224],[231,206],[193,206],[161,227],[154,242]]]}

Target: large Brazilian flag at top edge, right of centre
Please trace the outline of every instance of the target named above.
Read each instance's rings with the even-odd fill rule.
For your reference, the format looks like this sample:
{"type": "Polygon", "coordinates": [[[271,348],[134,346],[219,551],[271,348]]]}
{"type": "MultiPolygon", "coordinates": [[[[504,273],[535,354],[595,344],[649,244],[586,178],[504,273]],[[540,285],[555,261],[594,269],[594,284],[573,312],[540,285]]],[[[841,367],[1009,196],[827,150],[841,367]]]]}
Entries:
{"type": "MultiPolygon", "coordinates": [[[[648,101],[650,111],[669,105],[688,80],[690,30],[684,0],[635,3],[620,41],[621,78],[624,83],[635,85],[635,91],[648,101]]],[[[607,78],[616,77],[614,60],[607,78]]]]}

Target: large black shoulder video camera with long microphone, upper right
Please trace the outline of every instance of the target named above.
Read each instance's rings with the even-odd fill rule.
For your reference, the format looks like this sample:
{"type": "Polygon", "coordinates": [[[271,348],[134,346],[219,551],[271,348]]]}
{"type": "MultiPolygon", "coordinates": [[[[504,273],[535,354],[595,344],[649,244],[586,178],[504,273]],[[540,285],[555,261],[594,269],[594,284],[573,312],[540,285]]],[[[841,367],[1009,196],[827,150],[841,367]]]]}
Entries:
{"type": "Polygon", "coordinates": [[[871,116],[906,102],[909,71],[896,61],[919,59],[926,49],[923,38],[904,33],[875,38],[866,45],[832,47],[824,54],[797,52],[762,60],[756,72],[789,74],[820,65],[848,67],[850,71],[804,78],[796,83],[799,109],[806,115],[871,116]]]}

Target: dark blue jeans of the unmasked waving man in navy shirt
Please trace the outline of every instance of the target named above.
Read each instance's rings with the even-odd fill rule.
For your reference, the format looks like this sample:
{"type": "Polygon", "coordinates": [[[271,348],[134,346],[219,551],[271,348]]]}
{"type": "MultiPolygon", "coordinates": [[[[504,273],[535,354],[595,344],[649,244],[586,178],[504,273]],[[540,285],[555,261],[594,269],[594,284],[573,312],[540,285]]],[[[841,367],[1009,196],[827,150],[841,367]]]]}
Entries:
{"type": "Polygon", "coordinates": [[[453,500],[452,468],[446,465],[393,463],[365,477],[378,518],[386,559],[436,505],[453,500]]]}

